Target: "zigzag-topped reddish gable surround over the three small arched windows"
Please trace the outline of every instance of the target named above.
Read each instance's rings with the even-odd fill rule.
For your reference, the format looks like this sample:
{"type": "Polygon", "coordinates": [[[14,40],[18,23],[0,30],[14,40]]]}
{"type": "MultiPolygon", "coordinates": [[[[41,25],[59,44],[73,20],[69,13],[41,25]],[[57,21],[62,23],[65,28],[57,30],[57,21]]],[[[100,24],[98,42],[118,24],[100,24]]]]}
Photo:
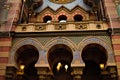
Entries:
{"type": "Polygon", "coordinates": [[[50,7],[47,7],[38,14],[37,20],[40,22],[43,22],[43,18],[45,16],[51,16],[52,20],[57,21],[58,20],[57,18],[60,15],[66,15],[68,17],[68,20],[73,20],[73,18],[71,17],[74,17],[74,15],[77,15],[77,14],[81,15],[84,20],[89,19],[89,13],[83,8],[81,8],[79,5],[77,5],[72,10],[67,9],[64,6],[61,6],[56,11],[50,7]]]}

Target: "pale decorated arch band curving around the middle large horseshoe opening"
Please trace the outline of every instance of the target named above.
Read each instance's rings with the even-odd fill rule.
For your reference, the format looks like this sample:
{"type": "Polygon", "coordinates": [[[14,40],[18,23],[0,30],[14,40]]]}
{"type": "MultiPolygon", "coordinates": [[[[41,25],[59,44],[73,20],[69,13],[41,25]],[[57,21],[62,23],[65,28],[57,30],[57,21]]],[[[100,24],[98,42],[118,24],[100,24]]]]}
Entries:
{"type": "Polygon", "coordinates": [[[73,53],[73,60],[72,60],[72,63],[74,63],[74,61],[78,58],[76,58],[75,56],[80,56],[78,53],[77,53],[77,45],[71,41],[69,38],[66,38],[66,37],[56,37],[56,38],[52,38],[51,40],[49,40],[44,48],[46,50],[46,61],[47,60],[47,57],[48,57],[48,51],[51,47],[55,46],[55,45],[59,45],[59,44],[62,44],[62,45],[66,45],[68,46],[71,50],[72,50],[72,53],[73,53]]]}

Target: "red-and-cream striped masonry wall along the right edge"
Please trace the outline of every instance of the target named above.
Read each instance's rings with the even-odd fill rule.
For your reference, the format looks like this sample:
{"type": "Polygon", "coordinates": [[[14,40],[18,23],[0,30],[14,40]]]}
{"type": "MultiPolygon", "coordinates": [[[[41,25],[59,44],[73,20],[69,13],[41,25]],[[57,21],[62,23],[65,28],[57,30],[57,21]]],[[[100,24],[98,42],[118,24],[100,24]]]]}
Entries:
{"type": "MultiPolygon", "coordinates": [[[[116,6],[113,0],[104,0],[105,2],[105,8],[107,10],[107,15],[110,18],[110,28],[120,28],[120,23],[119,21],[116,21],[118,18],[116,6]]],[[[114,30],[112,32],[112,45],[113,45],[113,50],[115,54],[115,60],[117,64],[117,70],[118,70],[118,76],[120,80],[120,35],[114,34],[114,30]]]]}

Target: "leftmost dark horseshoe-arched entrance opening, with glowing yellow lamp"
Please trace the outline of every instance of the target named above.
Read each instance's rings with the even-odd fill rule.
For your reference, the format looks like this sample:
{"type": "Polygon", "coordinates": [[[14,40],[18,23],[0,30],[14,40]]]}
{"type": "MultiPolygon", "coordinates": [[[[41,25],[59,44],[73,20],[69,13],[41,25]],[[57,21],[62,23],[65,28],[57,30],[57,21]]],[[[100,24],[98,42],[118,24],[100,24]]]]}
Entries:
{"type": "Polygon", "coordinates": [[[38,58],[39,52],[32,45],[25,45],[17,50],[16,63],[19,67],[18,71],[23,70],[21,80],[39,80],[37,70],[35,68],[35,63],[38,58]]]}

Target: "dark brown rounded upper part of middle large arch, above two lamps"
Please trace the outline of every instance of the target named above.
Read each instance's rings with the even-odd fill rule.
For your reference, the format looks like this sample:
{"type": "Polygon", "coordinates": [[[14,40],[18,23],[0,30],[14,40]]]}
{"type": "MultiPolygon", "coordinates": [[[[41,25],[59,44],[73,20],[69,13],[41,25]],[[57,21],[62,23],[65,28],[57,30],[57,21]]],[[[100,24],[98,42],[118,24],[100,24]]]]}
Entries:
{"type": "Polygon", "coordinates": [[[49,49],[47,53],[47,59],[51,69],[53,69],[54,65],[56,65],[56,63],[58,63],[59,61],[65,61],[66,63],[71,64],[73,59],[73,53],[67,45],[57,44],[49,49]]]}

